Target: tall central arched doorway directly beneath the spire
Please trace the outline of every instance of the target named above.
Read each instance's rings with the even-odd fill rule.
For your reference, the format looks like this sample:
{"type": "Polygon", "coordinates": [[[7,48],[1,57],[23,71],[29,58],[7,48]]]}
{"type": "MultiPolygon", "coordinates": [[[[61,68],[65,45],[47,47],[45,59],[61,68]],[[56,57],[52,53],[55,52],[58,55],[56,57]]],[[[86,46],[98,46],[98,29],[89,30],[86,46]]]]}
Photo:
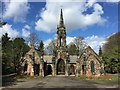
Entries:
{"type": "Polygon", "coordinates": [[[59,59],[57,63],[57,75],[65,75],[65,62],[62,59],[59,59]]]}

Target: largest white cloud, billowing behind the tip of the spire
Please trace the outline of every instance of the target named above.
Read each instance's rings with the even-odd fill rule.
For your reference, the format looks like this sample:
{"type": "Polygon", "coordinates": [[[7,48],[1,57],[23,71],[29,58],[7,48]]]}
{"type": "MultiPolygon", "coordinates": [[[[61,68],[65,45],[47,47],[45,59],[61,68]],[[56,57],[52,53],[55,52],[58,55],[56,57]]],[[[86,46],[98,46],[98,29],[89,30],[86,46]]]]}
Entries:
{"type": "Polygon", "coordinates": [[[44,32],[56,31],[56,26],[59,23],[60,9],[62,6],[63,17],[66,29],[75,30],[86,28],[95,24],[103,24],[106,19],[102,17],[104,14],[103,7],[96,0],[89,2],[49,2],[47,0],[45,8],[40,12],[40,19],[35,22],[35,29],[44,32]],[[72,8],[71,8],[72,7],[72,8]],[[84,14],[89,8],[93,9],[91,14],[84,14]]]}

